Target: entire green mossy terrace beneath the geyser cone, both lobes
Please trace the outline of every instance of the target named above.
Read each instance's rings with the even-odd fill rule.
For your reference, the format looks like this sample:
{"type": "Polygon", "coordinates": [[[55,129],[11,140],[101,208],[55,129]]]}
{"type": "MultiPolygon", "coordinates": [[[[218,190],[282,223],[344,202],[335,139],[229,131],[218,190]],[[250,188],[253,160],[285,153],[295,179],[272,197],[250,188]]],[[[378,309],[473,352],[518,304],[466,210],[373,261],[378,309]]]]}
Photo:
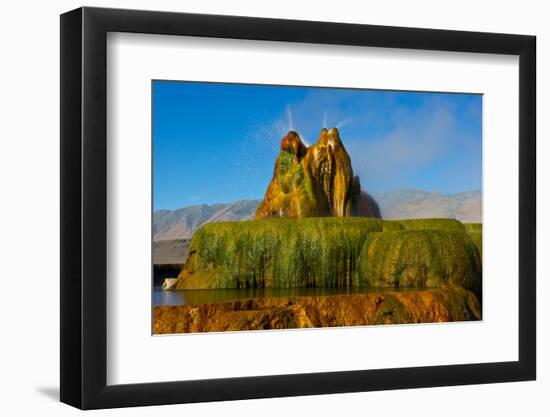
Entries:
{"type": "Polygon", "coordinates": [[[209,223],[195,233],[189,253],[179,289],[481,287],[480,254],[455,220],[209,223]]]}

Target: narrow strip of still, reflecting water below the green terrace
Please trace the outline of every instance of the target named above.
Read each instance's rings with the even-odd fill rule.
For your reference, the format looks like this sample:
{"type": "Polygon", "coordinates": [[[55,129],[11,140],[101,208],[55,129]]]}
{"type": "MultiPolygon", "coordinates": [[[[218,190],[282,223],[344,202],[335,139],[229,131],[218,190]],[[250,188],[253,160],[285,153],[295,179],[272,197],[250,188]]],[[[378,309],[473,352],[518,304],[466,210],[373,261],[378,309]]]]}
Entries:
{"type": "MultiPolygon", "coordinates": [[[[235,301],[260,297],[296,297],[339,294],[365,294],[381,292],[382,288],[249,288],[249,289],[216,289],[216,290],[180,290],[163,291],[161,287],[153,290],[153,306],[179,304],[209,304],[223,301],[235,301]]],[[[413,289],[414,290],[414,289],[413,289]]],[[[405,289],[388,288],[386,291],[406,291],[405,289]]]]}

